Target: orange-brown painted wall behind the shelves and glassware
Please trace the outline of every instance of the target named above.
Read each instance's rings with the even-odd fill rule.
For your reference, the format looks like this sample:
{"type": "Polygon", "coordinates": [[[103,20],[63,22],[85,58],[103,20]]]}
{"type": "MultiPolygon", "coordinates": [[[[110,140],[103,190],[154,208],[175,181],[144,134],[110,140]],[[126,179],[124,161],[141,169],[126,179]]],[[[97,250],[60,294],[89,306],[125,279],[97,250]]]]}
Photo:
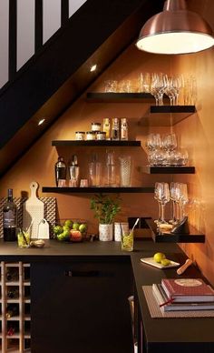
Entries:
{"type": "MultiPolygon", "coordinates": [[[[214,2],[189,0],[190,8],[196,9],[214,27],[214,2]]],[[[141,116],[145,115],[146,104],[97,104],[85,101],[85,93],[71,106],[63,116],[30,148],[11,170],[1,179],[0,196],[6,194],[8,187],[13,187],[15,196],[19,197],[22,190],[28,190],[32,180],[38,181],[41,187],[54,186],[53,167],[57,159],[57,151],[51,146],[54,139],[74,139],[76,130],[89,130],[92,121],[102,122],[103,117],[128,117],[130,138],[140,139],[142,148],[125,150],[118,153],[131,154],[133,159],[133,186],[153,186],[155,181],[178,180],[188,183],[190,193],[190,223],[206,234],[204,245],[183,245],[190,257],[193,257],[202,272],[214,284],[214,51],[210,49],[197,55],[148,55],[138,51],[131,45],[102,76],[95,81],[89,91],[103,90],[106,79],[135,80],[140,72],[158,71],[167,74],[192,74],[197,77],[198,98],[197,113],[189,116],[174,127],[178,134],[180,146],[186,147],[190,153],[190,162],[196,166],[193,176],[147,176],[138,171],[138,166],[146,163],[144,142],[151,131],[160,133],[167,131],[164,127],[142,126],[141,116]]],[[[59,153],[67,159],[76,153],[79,156],[81,175],[86,176],[87,163],[92,149],[64,148],[59,153]]],[[[103,151],[102,151],[103,155],[103,151]]],[[[40,196],[41,196],[40,189],[40,196]]],[[[51,196],[44,194],[43,196],[51,196]]],[[[98,224],[90,210],[90,195],[57,195],[59,217],[87,219],[90,231],[97,231],[98,224]]],[[[134,194],[122,195],[122,214],[118,219],[127,216],[157,216],[157,205],[153,195],[134,194]]]]}

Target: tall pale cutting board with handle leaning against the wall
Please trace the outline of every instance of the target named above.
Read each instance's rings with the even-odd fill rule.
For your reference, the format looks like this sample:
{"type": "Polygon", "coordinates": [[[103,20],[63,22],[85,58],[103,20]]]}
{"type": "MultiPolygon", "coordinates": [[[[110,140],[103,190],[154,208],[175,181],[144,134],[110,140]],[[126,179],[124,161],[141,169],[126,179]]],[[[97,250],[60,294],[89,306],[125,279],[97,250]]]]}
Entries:
{"type": "Polygon", "coordinates": [[[33,221],[31,237],[36,238],[38,225],[44,218],[44,203],[36,197],[38,183],[33,181],[30,184],[31,195],[23,204],[23,227],[27,229],[33,221]]]}

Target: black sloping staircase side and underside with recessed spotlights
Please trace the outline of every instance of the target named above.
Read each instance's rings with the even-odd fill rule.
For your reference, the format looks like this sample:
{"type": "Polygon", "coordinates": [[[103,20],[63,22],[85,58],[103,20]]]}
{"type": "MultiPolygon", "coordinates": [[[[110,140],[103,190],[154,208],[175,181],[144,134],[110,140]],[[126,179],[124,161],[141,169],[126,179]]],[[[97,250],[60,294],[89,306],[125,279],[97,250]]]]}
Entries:
{"type": "Polygon", "coordinates": [[[0,92],[0,176],[161,11],[163,0],[90,0],[0,92]],[[89,73],[99,62],[97,73],[89,73]],[[38,121],[48,116],[43,126],[38,121]]]}

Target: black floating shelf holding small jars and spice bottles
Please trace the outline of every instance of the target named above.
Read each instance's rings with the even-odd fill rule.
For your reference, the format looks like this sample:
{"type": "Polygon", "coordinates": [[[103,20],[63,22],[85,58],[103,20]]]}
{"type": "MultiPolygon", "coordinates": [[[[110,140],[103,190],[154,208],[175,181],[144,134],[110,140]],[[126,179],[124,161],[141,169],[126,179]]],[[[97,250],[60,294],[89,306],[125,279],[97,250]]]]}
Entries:
{"type": "Polygon", "coordinates": [[[55,140],[52,141],[52,146],[129,146],[138,147],[141,146],[141,141],[111,141],[111,140],[90,140],[90,141],[79,141],[79,140],[55,140]]]}

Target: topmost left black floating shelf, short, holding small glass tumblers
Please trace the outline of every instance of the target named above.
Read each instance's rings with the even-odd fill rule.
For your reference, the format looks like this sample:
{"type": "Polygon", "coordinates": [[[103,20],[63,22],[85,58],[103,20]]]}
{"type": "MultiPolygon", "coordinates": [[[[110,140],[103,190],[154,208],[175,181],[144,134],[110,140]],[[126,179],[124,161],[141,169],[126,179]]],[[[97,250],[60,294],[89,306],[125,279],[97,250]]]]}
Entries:
{"type": "Polygon", "coordinates": [[[103,103],[103,102],[138,102],[140,99],[151,100],[154,97],[150,93],[113,93],[113,92],[88,92],[87,101],[103,103]]]}

